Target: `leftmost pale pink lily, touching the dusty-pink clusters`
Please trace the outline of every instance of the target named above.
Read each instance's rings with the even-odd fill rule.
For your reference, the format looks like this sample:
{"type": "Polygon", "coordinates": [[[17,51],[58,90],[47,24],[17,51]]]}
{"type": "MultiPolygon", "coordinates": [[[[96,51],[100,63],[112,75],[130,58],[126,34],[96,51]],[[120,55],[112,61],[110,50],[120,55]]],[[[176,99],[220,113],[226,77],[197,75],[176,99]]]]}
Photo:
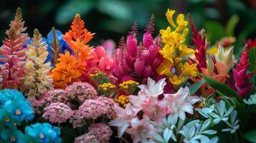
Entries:
{"type": "Polygon", "coordinates": [[[130,103],[126,105],[125,109],[118,105],[116,105],[114,109],[117,117],[109,122],[109,124],[110,126],[118,127],[118,137],[122,137],[125,129],[130,126],[131,119],[136,116],[136,113],[133,112],[130,103]]]}

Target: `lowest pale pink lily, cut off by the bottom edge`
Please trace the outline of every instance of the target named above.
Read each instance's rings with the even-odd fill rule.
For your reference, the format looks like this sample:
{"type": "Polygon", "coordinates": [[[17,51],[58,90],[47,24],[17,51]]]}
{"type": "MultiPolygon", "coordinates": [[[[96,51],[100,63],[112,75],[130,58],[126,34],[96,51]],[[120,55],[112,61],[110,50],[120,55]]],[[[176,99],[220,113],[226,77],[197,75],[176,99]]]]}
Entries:
{"type": "Polygon", "coordinates": [[[131,120],[131,128],[126,129],[126,132],[131,134],[133,143],[146,142],[151,138],[155,129],[152,124],[150,124],[150,119],[144,116],[143,119],[133,118],[131,120]]]}

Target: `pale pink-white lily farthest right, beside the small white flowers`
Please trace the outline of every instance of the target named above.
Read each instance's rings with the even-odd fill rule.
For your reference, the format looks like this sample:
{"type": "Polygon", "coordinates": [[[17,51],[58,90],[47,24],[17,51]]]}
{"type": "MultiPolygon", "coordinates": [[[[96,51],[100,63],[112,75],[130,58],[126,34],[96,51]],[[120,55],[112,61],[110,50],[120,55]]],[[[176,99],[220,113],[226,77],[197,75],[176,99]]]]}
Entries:
{"type": "Polygon", "coordinates": [[[181,87],[176,94],[164,94],[163,101],[171,109],[171,114],[178,114],[179,118],[186,119],[185,112],[193,114],[193,106],[200,100],[199,97],[190,97],[189,87],[181,87]]]}

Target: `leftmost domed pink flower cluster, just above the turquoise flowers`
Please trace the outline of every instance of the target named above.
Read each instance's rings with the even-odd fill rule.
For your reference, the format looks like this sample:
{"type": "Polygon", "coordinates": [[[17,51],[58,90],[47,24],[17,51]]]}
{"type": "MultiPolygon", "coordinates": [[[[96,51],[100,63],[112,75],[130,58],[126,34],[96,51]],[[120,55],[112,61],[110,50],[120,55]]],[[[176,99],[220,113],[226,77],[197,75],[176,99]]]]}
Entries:
{"type": "Polygon", "coordinates": [[[56,102],[44,108],[44,119],[49,119],[51,123],[64,123],[72,117],[73,111],[67,104],[56,102]]]}

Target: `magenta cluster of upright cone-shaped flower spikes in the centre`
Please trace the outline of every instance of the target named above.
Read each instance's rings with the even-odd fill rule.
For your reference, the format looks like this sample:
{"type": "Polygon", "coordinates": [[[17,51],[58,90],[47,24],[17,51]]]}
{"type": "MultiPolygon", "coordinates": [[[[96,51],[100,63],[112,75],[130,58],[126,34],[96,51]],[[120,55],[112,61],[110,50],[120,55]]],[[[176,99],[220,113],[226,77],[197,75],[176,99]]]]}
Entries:
{"type": "Polygon", "coordinates": [[[142,45],[138,45],[136,24],[133,24],[127,41],[125,42],[124,37],[120,40],[115,54],[117,66],[114,69],[115,76],[121,79],[119,82],[156,76],[156,69],[162,61],[162,56],[158,53],[161,49],[161,38],[156,36],[153,39],[153,32],[154,18],[152,16],[143,34],[142,45]]]}

